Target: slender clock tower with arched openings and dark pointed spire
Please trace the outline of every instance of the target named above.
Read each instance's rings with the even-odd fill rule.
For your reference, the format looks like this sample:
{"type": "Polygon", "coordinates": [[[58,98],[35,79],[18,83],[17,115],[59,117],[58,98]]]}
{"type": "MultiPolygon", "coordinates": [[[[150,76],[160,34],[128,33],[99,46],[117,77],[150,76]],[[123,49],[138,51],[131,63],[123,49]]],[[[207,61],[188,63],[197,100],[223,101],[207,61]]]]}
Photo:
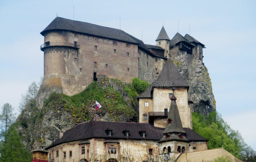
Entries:
{"type": "MultiPolygon", "coordinates": [[[[176,97],[171,98],[171,106],[166,120],[163,137],[159,144],[159,150],[162,153],[164,160],[175,161],[180,153],[188,153],[189,140],[186,137],[186,132],[182,127],[179,110],[176,104],[176,97]]],[[[161,154],[160,153],[160,154],[161,154]]]]}

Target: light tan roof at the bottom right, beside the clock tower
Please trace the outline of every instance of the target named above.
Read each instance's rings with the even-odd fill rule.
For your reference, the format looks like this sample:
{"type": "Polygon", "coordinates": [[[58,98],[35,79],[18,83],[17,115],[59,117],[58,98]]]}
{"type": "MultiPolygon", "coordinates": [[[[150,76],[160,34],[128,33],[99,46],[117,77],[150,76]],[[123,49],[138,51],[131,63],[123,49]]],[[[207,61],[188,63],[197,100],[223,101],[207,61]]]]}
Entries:
{"type": "Polygon", "coordinates": [[[176,161],[214,161],[215,158],[221,156],[228,157],[232,162],[241,161],[223,148],[180,154],[176,161]]]}

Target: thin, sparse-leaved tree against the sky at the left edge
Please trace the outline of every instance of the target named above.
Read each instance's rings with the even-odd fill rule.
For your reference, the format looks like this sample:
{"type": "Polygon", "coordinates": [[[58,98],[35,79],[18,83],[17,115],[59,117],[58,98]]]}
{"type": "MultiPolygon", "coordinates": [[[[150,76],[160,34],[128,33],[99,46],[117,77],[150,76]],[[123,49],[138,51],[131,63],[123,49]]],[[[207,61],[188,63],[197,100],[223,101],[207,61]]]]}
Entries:
{"type": "Polygon", "coordinates": [[[13,114],[12,105],[9,103],[5,103],[2,107],[0,121],[1,121],[1,138],[6,138],[6,131],[10,127],[10,125],[15,121],[15,114],[13,114]]]}

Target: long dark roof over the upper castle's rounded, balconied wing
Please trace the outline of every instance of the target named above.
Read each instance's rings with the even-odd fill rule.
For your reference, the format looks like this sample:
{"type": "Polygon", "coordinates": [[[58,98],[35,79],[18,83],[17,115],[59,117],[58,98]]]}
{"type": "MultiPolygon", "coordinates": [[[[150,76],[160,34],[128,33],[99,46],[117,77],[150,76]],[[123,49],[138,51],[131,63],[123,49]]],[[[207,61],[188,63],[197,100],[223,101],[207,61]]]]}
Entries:
{"type": "Polygon", "coordinates": [[[139,44],[122,30],[60,17],[54,18],[54,20],[52,20],[52,22],[41,32],[41,34],[44,36],[44,33],[49,30],[69,30],[139,44]]]}

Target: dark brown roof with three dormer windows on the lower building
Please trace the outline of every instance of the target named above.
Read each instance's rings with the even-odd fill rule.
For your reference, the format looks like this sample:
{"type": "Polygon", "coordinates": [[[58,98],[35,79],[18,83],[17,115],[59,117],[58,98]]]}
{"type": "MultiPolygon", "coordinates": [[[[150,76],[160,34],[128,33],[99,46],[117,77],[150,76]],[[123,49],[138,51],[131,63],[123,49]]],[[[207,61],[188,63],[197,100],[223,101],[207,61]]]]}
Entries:
{"type": "MultiPolygon", "coordinates": [[[[127,139],[123,131],[129,131],[129,139],[141,139],[140,132],[145,132],[148,140],[158,141],[163,136],[164,128],[155,127],[149,123],[135,122],[103,122],[89,121],[76,125],[64,132],[63,136],[54,141],[54,146],[66,142],[90,139],[94,137],[106,139],[127,139]],[[112,130],[112,136],[108,136],[107,130],[112,130]]],[[[52,144],[47,148],[52,147],[52,144]]]]}

